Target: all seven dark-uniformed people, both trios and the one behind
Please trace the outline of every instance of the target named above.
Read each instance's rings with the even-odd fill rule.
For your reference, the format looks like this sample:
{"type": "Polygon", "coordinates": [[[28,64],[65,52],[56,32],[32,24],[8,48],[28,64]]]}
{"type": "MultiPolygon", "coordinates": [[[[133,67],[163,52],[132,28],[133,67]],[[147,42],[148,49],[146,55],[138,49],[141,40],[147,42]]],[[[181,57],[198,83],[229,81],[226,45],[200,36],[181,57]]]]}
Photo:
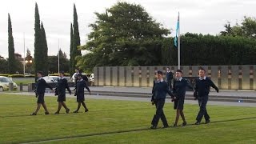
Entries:
{"type": "MultiPolygon", "coordinates": [[[[174,110],[176,111],[176,118],[173,126],[178,125],[178,119],[179,116],[182,117],[182,126],[186,126],[186,118],[183,113],[184,108],[184,100],[186,95],[186,87],[189,87],[190,89],[194,90],[194,99],[198,99],[198,103],[200,106],[200,110],[198,112],[198,116],[196,118],[196,125],[199,125],[202,117],[206,119],[206,123],[210,122],[210,116],[207,113],[206,110],[206,104],[208,102],[208,94],[210,92],[210,86],[213,87],[218,92],[218,87],[214,85],[214,82],[210,80],[210,78],[206,77],[206,70],[200,69],[199,70],[199,78],[195,80],[195,85],[192,87],[190,85],[190,82],[186,78],[182,78],[182,70],[176,70],[174,82],[172,85],[172,79],[173,74],[170,72],[170,69],[167,68],[166,73],[166,81],[163,80],[163,73],[162,71],[158,70],[157,72],[157,80],[154,81],[154,86],[152,89],[152,98],[151,102],[153,105],[156,106],[156,113],[154,114],[154,118],[151,122],[151,129],[156,129],[158,126],[159,119],[162,120],[163,127],[166,128],[169,127],[169,124],[166,120],[166,116],[163,112],[163,106],[166,102],[166,94],[169,94],[172,102],[174,102],[174,110]]],[[[55,90],[49,86],[46,81],[42,78],[42,71],[38,71],[38,80],[36,82],[36,97],[38,98],[38,106],[37,109],[34,111],[34,113],[30,115],[37,115],[38,110],[40,109],[41,105],[43,106],[45,110],[45,114],[49,114],[49,111],[46,107],[46,102],[44,101],[44,94],[46,91],[46,87],[50,88],[50,90],[53,90],[55,92],[55,95],[58,95],[58,110],[54,114],[59,114],[62,106],[66,109],[66,114],[70,112],[70,109],[66,106],[66,89],[71,94],[70,87],[68,86],[66,78],[64,78],[64,72],[61,71],[59,73],[59,80],[57,83],[57,86],[55,90]]],[[[86,88],[89,93],[90,89],[86,85],[86,81],[83,80],[81,73],[74,74],[75,78],[75,96],[77,96],[77,102],[78,102],[78,108],[77,110],[74,110],[74,113],[78,113],[78,110],[80,109],[81,103],[82,106],[85,108],[85,112],[88,111],[88,108],[86,107],[85,101],[85,95],[84,95],[84,88],[86,88]]]]}

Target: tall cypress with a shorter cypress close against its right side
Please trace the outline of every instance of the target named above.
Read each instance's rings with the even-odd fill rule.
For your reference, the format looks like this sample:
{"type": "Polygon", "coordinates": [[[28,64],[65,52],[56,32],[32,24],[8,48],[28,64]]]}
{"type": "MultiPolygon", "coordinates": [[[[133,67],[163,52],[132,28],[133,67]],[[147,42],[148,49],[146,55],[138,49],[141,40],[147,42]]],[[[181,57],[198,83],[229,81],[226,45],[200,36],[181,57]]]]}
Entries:
{"type": "Polygon", "coordinates": [[[37,78],[38,70],[43,69],[43,54],[42,54],[42,33],[40,28],[40,16],[38,12],[38,4],[35,3],[34,11],[34,71],[37,78]]]}

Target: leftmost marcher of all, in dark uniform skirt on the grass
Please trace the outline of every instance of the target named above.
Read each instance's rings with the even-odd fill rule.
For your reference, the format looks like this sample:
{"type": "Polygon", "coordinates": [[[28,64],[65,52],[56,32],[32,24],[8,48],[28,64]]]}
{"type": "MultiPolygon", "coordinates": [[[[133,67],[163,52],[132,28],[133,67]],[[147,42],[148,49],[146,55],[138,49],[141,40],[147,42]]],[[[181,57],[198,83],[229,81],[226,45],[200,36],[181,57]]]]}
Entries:
{"type": "Polygon", "coordinates": [[[51,86],[49,86],[46,83],[46,81],[42,78],[42,71],[38,71],[38,80],[36,82],[36,89],[34,90],[34,92],[36,94],[36,98],[38,98],[38,107],[34,111],[34,113],[32,113],[30,115],[38,114],[38,110],[40,110],[41,105],[46,111],[45,114],[49,114],[49,111],[47,110],[46,102],[45,102],[45,99],[44,99],[45,98],[46,87],[50,88],[50,90],[53,90],[53,88],[51,86]]]}

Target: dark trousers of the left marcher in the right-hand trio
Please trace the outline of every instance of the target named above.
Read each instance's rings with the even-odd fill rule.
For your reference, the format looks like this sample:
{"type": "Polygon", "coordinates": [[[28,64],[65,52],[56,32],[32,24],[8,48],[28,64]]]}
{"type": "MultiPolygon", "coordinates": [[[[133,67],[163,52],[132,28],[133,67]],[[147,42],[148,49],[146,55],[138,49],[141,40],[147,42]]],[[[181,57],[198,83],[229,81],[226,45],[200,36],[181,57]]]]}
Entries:
{"type": "Polygon", "coordinates": [[[161,118],[163,126],[168,126],[166,115],[163,113],[163,106],[165,105],[166,98],[156,99],[155,106],[157,108],[156,114],[154,114],[154,118],[152,119],[151,124],[153,126],[158,126],[159,119],[161,118]]]}

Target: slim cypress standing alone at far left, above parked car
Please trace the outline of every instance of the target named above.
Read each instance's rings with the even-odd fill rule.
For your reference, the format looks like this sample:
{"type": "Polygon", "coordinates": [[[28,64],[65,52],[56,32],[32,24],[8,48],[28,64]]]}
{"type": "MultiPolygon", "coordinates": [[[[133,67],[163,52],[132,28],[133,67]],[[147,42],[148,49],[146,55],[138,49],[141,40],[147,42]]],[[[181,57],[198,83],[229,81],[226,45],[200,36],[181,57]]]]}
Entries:
{"type": "Polygon", "coordinates": [[[15,57],[14,57],[14,37],[10,21],[10,14],[8,14],[8,70],[9,74],[15,74],[15,57]]]}

